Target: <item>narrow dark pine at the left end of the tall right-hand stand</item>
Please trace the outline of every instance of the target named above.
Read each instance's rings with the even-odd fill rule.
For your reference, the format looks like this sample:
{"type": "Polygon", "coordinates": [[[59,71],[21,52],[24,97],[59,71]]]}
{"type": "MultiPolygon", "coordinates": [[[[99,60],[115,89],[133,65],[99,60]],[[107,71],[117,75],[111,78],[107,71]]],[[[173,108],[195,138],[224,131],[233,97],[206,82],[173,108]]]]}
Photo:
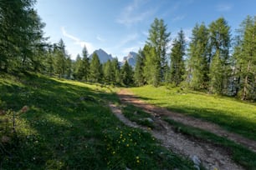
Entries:
{"type": "Polygon", "coordinates": [[[145,83],[145,77],[143,75],[145,55],[140,49],[136,58],[136,67],[134,71],[134,81],[137,86],[142,86],[145,83]]]}

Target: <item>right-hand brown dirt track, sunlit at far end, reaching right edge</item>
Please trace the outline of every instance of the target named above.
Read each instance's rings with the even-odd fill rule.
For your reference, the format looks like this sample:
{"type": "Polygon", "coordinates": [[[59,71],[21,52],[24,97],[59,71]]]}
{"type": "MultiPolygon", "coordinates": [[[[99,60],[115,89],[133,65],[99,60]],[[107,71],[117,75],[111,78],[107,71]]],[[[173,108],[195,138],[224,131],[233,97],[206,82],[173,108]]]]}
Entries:
{"type": "Polygon", "coordinates": [[[136,107],[141,107],[143,110],[145,110],[146,112],[150,112],[155,117],[167,116],[170,117],[172,120],[182,122],[185,125],[189,125],[195,128],[201,128],[218,136],[228,138],[235,143],[240,143],[256,153],[256,141],[250,140],[248,138],[243,138],[236,133],[230,133],[227,130],[220,128],[217,124],[214,124],[212,122],[206,122],[194,117],[187,117],[186,115],[177,112],[168,111],[166,108],[156,107],[154,105],[148,104],[141,101],[136,96],[134,96],[133,93],[125,89],[120,90],[120,92],[118,92],[118,95],[121,102],[128,102],[135,105],[136,107]]]}

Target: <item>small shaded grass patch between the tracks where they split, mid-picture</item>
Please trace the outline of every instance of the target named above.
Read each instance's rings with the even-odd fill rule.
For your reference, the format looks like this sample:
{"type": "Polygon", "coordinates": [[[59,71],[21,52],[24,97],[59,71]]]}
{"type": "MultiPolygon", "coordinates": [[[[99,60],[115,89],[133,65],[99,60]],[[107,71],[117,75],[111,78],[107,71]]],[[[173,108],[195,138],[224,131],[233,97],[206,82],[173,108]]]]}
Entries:
{"type": "Polygon", "coordinates": [[[144,112],[141,108],[135,107],[131,104],[122,108],[122,112],[129,120],[136,122],[148,128],[155,128],[154,122],[149,121],[147,118],[152,118],[151,114],[144,112]]]}

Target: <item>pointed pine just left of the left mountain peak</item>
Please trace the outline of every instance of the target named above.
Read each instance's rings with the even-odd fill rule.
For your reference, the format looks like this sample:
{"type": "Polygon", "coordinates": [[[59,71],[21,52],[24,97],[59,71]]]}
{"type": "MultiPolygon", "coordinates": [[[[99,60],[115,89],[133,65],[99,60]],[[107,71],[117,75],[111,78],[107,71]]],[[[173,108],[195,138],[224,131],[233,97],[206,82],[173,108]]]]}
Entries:
{"type": "Polygon", "coordinates": [[[97,53],[93,53],[93,56],[90,61],[90,81],[91,82],[100,82],[102,67],[100,64],[100,59],[97,53]]]}

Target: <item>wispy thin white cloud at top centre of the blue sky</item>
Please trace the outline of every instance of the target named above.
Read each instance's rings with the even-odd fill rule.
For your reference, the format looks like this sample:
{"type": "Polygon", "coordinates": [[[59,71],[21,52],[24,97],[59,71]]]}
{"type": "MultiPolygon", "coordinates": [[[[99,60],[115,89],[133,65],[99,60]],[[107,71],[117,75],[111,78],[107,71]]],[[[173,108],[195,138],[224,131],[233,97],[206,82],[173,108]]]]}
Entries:
{"type": "Polygon", "coordinates": [[[134,0],[130,5],[125,7],[123,9],[123,12],[120,14],[120,18],[117,18],[117,23],[124,24],[125,26],[130,26],[133,23],[138,23],[149,16],[152,15],[152,13],[155,13],[155,10],[146,9],[142,11],[141,5],[145,1],[141,0],[134,0]]]}

